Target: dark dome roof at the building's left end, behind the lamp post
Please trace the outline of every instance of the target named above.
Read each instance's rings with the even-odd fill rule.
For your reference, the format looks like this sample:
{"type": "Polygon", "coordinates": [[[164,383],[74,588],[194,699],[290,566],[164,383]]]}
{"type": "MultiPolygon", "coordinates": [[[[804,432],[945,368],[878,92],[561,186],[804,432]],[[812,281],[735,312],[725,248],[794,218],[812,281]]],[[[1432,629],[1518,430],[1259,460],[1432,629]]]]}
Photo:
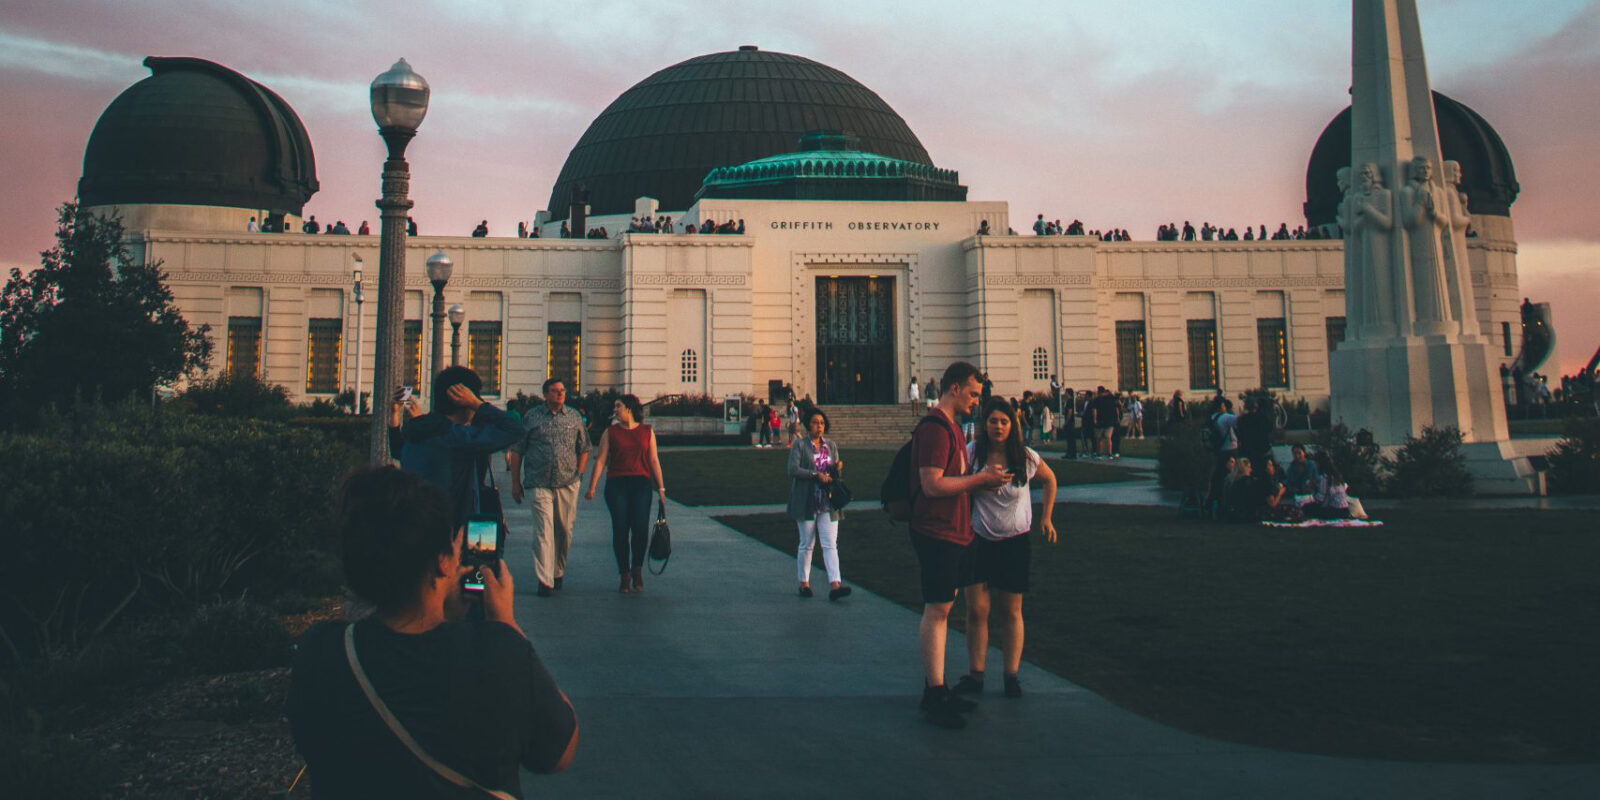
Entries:
{"type": "Polygon", "coordinates": [[[299,216],[317,192],[310,138],[272,90],[198,58],[144,59],[83,150],[82,205],[178,203],[299,216]]]}

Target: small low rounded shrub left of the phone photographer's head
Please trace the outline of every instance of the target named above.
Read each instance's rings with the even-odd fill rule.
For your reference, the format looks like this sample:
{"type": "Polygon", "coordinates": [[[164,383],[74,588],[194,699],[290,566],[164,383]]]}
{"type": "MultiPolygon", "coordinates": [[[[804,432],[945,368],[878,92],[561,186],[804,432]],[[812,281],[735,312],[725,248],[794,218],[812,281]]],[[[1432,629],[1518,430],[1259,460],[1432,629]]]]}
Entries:
{"type": "Polygon", "coordinates": [[[184,629],[182,661],[200,672],[282,667],[290,634],[267,606],[250,600],[208,605],[184,629]]]}

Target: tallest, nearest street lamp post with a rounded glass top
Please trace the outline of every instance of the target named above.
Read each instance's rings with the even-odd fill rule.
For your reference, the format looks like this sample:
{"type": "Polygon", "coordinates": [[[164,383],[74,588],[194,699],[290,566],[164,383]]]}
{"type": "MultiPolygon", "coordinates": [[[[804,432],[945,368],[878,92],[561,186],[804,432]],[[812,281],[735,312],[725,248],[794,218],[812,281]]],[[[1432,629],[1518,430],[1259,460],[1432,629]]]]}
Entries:
{"type": "MultiPolygon", "coordinates": [[[[389,149],[384,162],[378,242],[378,336],[373,358],[373,397],[387,397],[405,368],[402,333],[405,325],[405,243],[406,211],[411,210],[411,166],[405,147],[427,115],[427,82],[405,59],[373,78],[371,106],[378,134],[389,149]]],[[[373,414],[368,461],[389,464],[387,414],[373,414]]]]}

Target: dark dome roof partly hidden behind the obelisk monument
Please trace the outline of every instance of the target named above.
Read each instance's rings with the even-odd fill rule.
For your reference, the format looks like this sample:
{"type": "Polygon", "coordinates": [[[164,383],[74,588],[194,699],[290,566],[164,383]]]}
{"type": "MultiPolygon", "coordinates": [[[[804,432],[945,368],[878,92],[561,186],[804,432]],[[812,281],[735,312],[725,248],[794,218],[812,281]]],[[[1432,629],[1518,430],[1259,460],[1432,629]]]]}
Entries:
{"type": "MultiPolygon", "coordinates": [[[[1438,146],[1446,162],[1461,162],[1461,187],[1474,214],[1510,216],[1517,202],[1517,170],[1494,128],[1478,112],[1434,93],[1438,146]]],[[[1350,109],[1339,112],[1317,139],[1306,166],[1306,224],[1333,224],[1339,210],[1336,173],[1350,166],[1350,109]]]]}

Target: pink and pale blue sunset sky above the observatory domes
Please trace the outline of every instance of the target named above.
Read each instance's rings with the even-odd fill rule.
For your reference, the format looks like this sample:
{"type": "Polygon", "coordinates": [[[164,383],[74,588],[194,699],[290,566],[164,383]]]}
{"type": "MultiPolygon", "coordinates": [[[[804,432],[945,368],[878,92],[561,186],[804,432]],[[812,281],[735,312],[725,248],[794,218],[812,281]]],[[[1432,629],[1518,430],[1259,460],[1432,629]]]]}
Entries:
{"type": "MultiPolygon", "coordinates": [[[[1506,139],[1523,294],[1557,365],[1600,346],[1600,0],[1419,0],[1434,88],[1506,139]]],[[[1306,162],[1347,102],[1350,3],[637,3],[8,0],[0,6],[0,266],[35,264],[94,120],[198,56],[282,94],[310,131],[306,213],[376,226],[366,86],[406,58],[434,88],[408,150],[422,234],[514,235],[608,102],[651,72],[758,45],[877,91],[973,200],[1154,238],[1166,221],[1302,222],[1306,162]]]]}

